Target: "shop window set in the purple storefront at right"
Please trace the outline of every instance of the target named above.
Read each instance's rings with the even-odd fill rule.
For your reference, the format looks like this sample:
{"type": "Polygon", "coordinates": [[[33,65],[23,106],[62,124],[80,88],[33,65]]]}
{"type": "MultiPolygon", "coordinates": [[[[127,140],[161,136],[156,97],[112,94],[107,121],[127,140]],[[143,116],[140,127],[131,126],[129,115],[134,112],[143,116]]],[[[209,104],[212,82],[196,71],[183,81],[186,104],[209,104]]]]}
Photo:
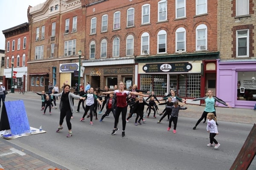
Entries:
{"type": "MultiPolygon", "coordinates": [[[[237,99],[256,101],[256,81],[253,71],[238,71],[237,99]]],[[[255,73],[256,76],[256,73],[255,73]]]]}

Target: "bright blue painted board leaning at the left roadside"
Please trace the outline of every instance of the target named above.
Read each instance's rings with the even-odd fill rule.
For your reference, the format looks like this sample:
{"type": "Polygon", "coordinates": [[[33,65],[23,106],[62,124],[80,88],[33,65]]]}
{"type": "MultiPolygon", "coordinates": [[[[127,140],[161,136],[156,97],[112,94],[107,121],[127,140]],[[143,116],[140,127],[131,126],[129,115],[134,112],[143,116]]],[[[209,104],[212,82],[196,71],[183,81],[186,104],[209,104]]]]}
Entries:
{"type": "Polygon", "coordinates": [[[12,134],[19,135],[30,130],[23,100],[7,101],[5,108],[12,134]]]}

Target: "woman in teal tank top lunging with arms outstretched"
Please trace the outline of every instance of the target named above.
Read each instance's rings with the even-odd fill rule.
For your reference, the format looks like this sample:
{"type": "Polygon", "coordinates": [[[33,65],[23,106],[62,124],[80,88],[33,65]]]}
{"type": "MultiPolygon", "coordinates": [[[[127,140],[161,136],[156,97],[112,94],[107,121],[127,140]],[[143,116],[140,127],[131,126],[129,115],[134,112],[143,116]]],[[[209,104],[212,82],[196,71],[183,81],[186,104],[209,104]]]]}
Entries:
{"type": "Polygon", "coordinates": [[[212,91],[210,91],[210,90],[208,91],[208,96],[205,96],[202,98],[196,98],[196,99],[193,99],[192,101],[198,101],[198,100],[204,100],[206,105],[205,105],[205,109],[204,109],[204,112],[203,112],[201,118],[198,119],[198,122],[193,127],[193,130],[196,129],[197,125],[204,119],[205,116],[207,116],[208,113],[214,113],[214,115],[216,115],[215,107],[214,107],[215,102],[219,102],[222,105],[226,105],[229,108],[231,108],[231,106],[228,103],[225,103],[222,100],[212,96],[212,91]]]}

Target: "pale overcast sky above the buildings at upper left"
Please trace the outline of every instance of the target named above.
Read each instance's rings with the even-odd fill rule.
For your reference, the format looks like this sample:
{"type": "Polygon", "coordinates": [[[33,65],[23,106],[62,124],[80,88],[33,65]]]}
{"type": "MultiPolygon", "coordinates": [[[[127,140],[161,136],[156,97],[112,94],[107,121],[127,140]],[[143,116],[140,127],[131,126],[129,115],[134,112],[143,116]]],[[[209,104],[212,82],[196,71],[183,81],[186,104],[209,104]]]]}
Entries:
{"type": "Polygon", "coordinates": [[[5,50],[3,30],[28,23],[27,9],[46,0],[0,0],[0,49],[5,50]]]}

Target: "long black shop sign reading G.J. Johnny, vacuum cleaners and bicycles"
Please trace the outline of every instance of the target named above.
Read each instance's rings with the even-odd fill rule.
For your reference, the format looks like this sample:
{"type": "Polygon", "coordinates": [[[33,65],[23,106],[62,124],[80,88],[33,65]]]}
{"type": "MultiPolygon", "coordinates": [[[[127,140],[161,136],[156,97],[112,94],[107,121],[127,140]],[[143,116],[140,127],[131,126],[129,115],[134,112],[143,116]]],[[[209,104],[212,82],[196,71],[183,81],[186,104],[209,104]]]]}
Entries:
{"type": "Polygon", "coordinates": [[[188,72],[190,70],[192,70],[192,64],[190,64],[189,62],[173,62],[143,65],[143,71],[145,71],[146,73],[175,73],[188,72]]]}

